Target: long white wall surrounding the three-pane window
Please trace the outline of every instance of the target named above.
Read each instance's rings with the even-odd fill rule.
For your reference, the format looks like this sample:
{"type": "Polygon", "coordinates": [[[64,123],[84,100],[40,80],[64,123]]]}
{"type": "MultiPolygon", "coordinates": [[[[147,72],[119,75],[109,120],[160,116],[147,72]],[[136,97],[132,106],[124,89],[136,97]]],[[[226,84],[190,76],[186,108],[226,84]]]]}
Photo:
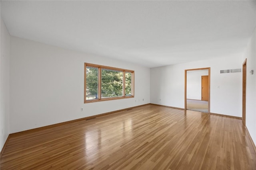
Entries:
{"type": "Polygon", "coordinates": [[[10,56],[10,133],[150,103],[149,68],[18,37],[10,56]],[[84,104],[84,63],[134,70],[135,98],[84,104]]]}

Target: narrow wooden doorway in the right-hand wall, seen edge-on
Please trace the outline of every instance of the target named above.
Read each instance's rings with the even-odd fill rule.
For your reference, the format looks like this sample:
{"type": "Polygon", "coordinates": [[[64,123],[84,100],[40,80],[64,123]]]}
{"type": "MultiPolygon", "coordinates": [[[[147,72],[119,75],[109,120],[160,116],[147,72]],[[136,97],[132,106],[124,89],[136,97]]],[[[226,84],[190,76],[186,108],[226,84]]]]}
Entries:
{"type": "Polygon", "coordinates": [[[242,102],[242,120],[243,124],[246,125],[246,59],[243,63],[243,102],[242,102]]]}

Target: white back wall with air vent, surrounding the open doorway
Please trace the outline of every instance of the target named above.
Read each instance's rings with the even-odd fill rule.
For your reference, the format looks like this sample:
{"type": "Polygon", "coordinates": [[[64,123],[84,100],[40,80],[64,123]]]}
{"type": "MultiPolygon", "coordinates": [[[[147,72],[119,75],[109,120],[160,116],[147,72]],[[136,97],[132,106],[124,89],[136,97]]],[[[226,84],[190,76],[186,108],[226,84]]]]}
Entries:
{"type": "Polygon", "coordinates": [[[211,68],[210,112],[242,117],[242,72],[220,74],[242,68],[242,54],[150,68],[150,102],[184,108],[184,70],[204,67],[211,68]]]}

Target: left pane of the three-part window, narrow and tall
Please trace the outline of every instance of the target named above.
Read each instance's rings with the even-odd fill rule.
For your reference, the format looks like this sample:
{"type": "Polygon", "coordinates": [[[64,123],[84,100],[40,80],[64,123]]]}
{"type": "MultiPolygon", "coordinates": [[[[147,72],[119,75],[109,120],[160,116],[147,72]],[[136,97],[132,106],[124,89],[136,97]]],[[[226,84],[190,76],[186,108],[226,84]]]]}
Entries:
{"type": "Polygon", "coordinates": [[[86,67],[86,100],[98,99],[98,68],[86,67]]]}

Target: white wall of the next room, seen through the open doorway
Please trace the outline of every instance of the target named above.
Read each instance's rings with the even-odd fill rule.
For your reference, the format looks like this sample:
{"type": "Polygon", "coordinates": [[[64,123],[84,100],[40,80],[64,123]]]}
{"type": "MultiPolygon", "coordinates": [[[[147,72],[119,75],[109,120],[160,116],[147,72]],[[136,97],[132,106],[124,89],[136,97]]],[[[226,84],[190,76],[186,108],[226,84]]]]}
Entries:
{"type": "Polygon", "coordinates": [[[208,76],[208,70],[187,71],[187,99],[202,100],[202,76],[208,76]]]}

